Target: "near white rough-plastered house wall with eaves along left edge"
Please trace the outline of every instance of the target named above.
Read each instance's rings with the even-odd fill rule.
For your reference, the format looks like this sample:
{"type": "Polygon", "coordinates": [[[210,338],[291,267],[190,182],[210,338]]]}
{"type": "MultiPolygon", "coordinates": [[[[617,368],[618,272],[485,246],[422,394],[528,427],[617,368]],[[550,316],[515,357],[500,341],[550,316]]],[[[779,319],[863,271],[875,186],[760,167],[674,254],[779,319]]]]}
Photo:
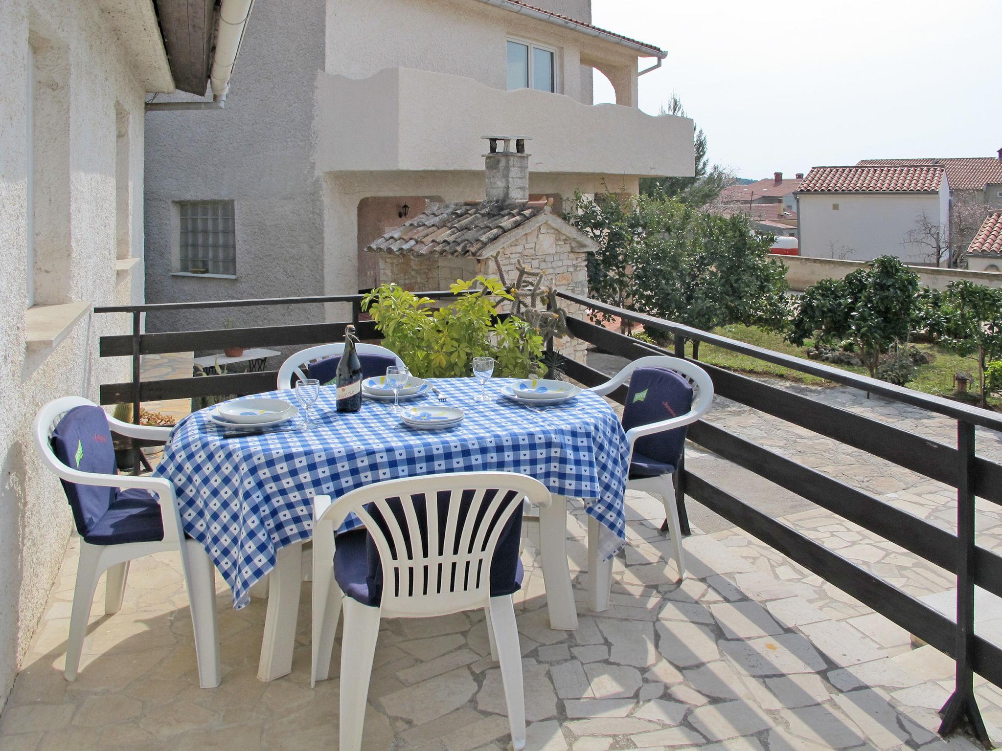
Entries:
{"type": "Polygon", "coordinates": [[[204,91],[214,5],[0,3],[0,708],[71,526],[32,421],[52,399],[96,401],[99,384],[128,379],[121,358],[96,356],[98,336],[128,318],[91,308],[143,301],[143,100],[175,80],[204,91]],[[185,20],[183,45],[165,48],[161,29],[199,7],[201,36],[185,20]]]}

